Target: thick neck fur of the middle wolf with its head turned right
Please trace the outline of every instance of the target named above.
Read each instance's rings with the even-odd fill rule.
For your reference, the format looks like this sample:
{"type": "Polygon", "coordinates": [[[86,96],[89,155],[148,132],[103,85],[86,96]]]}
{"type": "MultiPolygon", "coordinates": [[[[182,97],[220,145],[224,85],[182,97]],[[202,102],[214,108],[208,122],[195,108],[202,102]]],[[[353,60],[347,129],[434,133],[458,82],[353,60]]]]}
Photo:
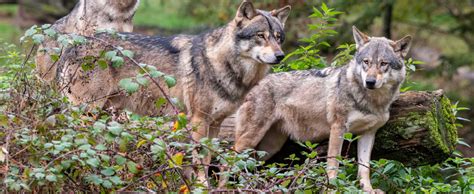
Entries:
{"type": "Polygon", "coordinates": [[[209,59],[208,71],[216,78],[209,81],[223,99],[242,100],[269,70],[268,65],[240,53],[235,28],[230,24],[204,35],[203,44],[207,46],[203,54],[209,59]]]}

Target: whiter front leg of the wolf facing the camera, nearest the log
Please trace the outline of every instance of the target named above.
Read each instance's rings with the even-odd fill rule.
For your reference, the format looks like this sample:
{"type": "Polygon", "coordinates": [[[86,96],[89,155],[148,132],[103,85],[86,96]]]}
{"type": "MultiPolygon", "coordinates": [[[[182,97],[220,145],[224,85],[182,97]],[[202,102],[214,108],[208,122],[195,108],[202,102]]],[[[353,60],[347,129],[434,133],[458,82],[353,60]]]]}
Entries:
{"type": "Polygon", "coordinates": [[[359,162],[359,173],[360,186],[362,189],[369,193],[380,193],[381,191],[375,191],[370,183],[370,155],[372,153],[372,147],[374,146],[375,132],[377,130],[371,130],[362,134],[357,142],[357,158],[359,162]]]}

